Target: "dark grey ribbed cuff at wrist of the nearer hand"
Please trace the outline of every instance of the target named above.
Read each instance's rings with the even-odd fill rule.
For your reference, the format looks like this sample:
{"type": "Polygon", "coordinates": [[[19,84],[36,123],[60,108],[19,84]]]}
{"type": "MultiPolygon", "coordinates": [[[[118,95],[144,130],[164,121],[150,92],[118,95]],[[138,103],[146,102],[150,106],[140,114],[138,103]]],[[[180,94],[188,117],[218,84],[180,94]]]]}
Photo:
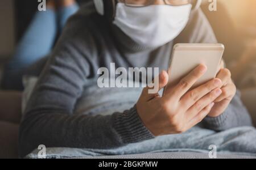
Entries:
{"type": "Polygon", "coordinates": [[[114,118],[114,129],[123,143],[135,143],[154,138],[154,135],[143,125],[136,106],[114,118]]]}

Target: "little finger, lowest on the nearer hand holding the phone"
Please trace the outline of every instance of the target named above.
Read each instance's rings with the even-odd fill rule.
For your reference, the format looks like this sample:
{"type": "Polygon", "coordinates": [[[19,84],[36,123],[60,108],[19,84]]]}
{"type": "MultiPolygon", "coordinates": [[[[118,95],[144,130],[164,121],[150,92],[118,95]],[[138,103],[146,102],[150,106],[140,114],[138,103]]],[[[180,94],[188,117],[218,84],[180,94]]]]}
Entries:
{"type": "Polygon", "coordinates": [[[186,129],[190,129],[193,126],[199,124],[207,115],[210,113],[210,110],[213,108],[214,103],[210,103],[202,111],[200,111],[195,117],[193,117],[187,124],[186,129]]]}

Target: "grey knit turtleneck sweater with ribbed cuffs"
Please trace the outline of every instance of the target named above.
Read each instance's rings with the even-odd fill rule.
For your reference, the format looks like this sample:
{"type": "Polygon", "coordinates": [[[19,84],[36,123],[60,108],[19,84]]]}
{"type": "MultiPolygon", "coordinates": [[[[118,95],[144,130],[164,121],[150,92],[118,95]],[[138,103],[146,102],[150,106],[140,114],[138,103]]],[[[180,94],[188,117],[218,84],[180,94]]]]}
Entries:
{"type": "MultiPolygon", "coordinates": [[[[84,87],[95,82],[100,67],[159,67],[167,69],[176,42],[216,42],[201,10],[192,12],[187,27],[174,42],[146,49],[98,15],[88,3],[69,19],[39,77],[19,131],[19,154],[47,147],[113,148],[154,138],[136,108],[109,116],[77,115],[75,105],[84,87]]],[[[111,94],[109,94],[111,95],[111,94]]],[[[220,117],[204,120],[205,128],[225,130],[251,125],[238,96],[220,117]]]]}

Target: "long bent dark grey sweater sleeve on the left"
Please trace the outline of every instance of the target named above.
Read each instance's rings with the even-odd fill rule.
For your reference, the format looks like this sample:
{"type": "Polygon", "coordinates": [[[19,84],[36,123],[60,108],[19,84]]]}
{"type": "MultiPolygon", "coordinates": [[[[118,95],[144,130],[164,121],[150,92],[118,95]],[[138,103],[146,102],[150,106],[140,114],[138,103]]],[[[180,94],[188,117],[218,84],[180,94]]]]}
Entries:
{"type": "Polygon", "coordinates": [[[93,63],[86,59],[86,52],[77,49],[78,44],[63,40],[58,44],[39,77],[20,125],[21,157],[39,145],[113,148],[154,138],[135,107],[110,116],[73,114],[93,63]]]}

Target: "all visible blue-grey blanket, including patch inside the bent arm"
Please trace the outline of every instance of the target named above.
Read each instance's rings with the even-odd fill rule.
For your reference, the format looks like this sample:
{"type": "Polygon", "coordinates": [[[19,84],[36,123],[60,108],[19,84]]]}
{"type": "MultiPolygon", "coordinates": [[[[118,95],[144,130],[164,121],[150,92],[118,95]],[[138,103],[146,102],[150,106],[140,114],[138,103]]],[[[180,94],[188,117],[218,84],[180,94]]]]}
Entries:
{"type": "MultiPolygon", "coordinates": [[[[30,79],[30,81],[28,80],[26,82],[27,88],[23,97],[24,105],[26,105],[26,101],[30,96],[30,91],[36,81],[30,79]]],[[[80,99],[79,103],[77,103],[76,114],[97,113],[106,115],[118,111],[122,112],[123,110],[132,107],[138,100],[138,97],[141,94],[141,89],[98,89],[96,86],[91,86],[85,89],[85,94],[86,95],[80,99]],[[113,105],[115,105],[114,110],[113,105]]],[[[203,154],[203,157],[205,157],[210,151],[210,145],[215,145],[217,147],[217,155],[231,154],[238,155],[237,157],[231,156],[231,158],[239,158],[239,156],[255,156],[254,158],[256,158],[256,129],[253,127],[241,127],[217,133],[216,131],[196,126],[183,134],[166,135],[140,143],[131,143],[123,147],[110,148],[108,150],[96,150],[90,148],[47,148],[46,156],[47,158],[95,158],[94,156],[119,155],[119,158],[123,158],[121,155],[143,154],[144,158],[148,158],[148,155],[150,155],[149,158],[152,158],[152,155],[159,152],[192,152],[195,153],[195,155],[203,154]]],[[[38,151],[39,150],[36,149],[31,154],[27,155],[27,158],[37,158],[38,151]]],[[[193,154],[190,154],[189,157],[192,155],[193,154]]],[[[170,156],[169,154],[167,158],[168,157],[173,156],[170,156]]],[[[156,158],[158,157],[156,156],[156,158]]]]}

